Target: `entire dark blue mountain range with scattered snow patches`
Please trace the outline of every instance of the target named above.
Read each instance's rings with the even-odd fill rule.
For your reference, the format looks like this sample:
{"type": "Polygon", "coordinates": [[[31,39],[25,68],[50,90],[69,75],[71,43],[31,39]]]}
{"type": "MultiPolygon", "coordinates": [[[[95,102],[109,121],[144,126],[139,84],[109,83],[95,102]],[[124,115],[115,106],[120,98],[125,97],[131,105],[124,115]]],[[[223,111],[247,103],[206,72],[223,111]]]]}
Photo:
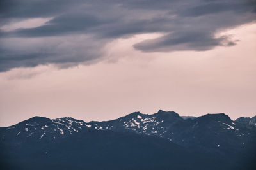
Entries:
{"type": "Polygon", "coordinates": [[[134,112],[115,120],[33,117],[0,128],[1,169],[256,169],[256,117],[134,112]]]}

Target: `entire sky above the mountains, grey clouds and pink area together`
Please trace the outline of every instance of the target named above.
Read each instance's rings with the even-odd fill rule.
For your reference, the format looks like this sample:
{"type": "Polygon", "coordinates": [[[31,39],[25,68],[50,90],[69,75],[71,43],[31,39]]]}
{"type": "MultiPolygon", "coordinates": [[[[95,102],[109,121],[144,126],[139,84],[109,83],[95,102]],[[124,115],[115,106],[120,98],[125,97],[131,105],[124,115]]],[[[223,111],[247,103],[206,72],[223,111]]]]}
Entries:
{"type": "Polygon", "coordinates": [[[255,0],[2,0],[0,127],[159,109],[256,115],[255,0]]]}

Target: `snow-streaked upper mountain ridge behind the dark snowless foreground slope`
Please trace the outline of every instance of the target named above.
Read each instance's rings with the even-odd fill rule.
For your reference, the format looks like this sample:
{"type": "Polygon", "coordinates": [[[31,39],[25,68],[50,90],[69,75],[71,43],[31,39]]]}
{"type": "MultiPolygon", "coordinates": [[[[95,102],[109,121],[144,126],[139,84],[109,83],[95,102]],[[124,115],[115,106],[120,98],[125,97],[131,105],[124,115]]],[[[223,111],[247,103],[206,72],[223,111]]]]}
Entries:
{"type": "Polygon", "coordinates": [[[52,141],[81,131],[134,132],[165,138],[181,146],[218,150],[227,150],[229,146],[241,148],[256,139],[256,127],[235,122],[224,113],[184,119],[174,111],[163,110],[153,115],[134,112],[116,120],[88,123],[71,117],[52,120],[33,117],[17,125],[1,128],[1,138],[52,141]]]}

